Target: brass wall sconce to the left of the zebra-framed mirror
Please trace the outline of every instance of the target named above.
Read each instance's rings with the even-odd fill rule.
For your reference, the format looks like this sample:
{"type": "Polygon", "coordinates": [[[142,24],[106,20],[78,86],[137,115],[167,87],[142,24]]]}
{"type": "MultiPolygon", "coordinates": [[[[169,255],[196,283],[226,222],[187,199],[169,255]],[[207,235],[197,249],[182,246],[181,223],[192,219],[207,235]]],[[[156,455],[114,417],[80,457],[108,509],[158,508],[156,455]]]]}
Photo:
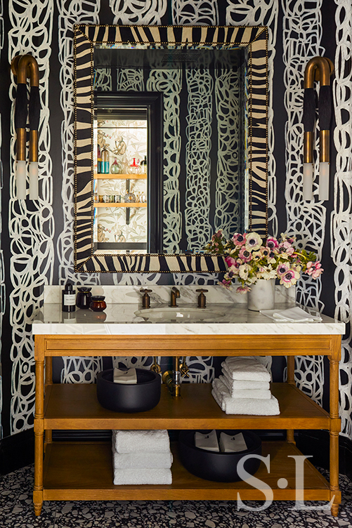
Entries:
{"type": "Polygon", "coordinates": [[[30,128],[30,199],[39,198],[38,190],[38,129],[39,129],[39,68],[32,55],[16,55],[11,61],[11,70],[17,77],[17,94],[15,103],[16,163],[15,179],[17,198],[25,199],[26,190],[26,143],[27,115],[30,128]],[[30,79],[30,101],[27,98],[27,78],[30,79]]]}

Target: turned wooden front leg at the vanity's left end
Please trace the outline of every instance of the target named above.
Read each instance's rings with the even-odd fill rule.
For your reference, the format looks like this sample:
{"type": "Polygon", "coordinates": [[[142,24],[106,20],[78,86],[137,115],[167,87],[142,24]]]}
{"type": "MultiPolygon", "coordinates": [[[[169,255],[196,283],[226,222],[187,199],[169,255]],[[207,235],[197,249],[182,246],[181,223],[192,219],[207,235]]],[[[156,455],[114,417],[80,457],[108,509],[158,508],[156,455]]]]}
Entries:
{"type": "MultiPolygon", "coordinates": [[[[38,336],[36,336],[37,338],[38,336]]],[[[37,341],[36,341],[37,345],[37,341]]],[[[44,360],[35,362],[35,414],[34,414],[34,513],[41,513],[43,505],[43,447],[44,447],[44,360]]]]}

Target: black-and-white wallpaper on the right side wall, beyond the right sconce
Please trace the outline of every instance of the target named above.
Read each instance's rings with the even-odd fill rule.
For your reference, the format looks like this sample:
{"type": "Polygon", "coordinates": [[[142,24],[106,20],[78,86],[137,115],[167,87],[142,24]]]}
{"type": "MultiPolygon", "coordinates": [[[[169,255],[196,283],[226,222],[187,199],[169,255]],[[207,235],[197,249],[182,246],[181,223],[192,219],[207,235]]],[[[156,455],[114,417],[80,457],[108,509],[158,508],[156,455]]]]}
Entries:
{"type": "Polygon", "coordinates": [[[337,50],[333,96],[336,128],[334,143],[337,150],[334,176],[334,211],[331,218],[331,254],[334,272],[336,304],[334,316],[346,322],[347,332],[342,341],[340,362],[340,414],[342,434],[352,437],[352,348],[351,348],[351,240],[352,240],[352,137],[351,137],[351,2],[335,0],[337,50]]]}

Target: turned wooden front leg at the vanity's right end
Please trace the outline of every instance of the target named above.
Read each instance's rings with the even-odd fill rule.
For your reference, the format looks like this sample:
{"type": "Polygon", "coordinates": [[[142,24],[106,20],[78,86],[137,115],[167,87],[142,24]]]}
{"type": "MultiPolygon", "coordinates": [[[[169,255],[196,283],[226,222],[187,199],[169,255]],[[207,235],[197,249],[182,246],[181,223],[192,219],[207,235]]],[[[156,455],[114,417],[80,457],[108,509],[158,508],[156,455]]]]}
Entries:
{"type": "Polygon", "coordinates": [[[330,501],[332,515],[339,512],[341,492],[339,491],[339,359],[341,358],[341,340],[334,336],[330,361],[330,501]]]}

